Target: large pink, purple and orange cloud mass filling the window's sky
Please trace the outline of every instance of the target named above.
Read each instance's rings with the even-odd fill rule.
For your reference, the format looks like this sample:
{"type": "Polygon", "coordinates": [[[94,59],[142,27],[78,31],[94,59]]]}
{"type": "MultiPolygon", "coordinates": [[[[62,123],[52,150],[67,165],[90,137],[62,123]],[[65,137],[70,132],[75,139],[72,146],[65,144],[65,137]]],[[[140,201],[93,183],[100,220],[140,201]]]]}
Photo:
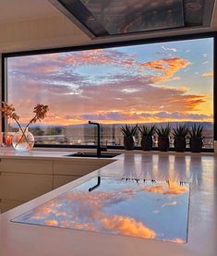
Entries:
{"type": "MultiPolygon", "coordinates": [[[[30,118],[30,109],[39,103],[49,105],[50,113],[44,122],[50,124],[84,123],[91,116],[102,121],[138,118],[142,122],[147,118],[176,120],[190,116],[198,120],[201,104],[207,102],[206,95],[189,94],[184,88],[154,85],[173,79],[175,72],[189,64],[181,58],[139,63],[134,55],[109,49],[12,58],[8,61],[11,73],[9,100],[15,104],[23,122],[30,118]],[[103,81],[98,84],[89,76],[76,73],[76,67],[89,65],[123,66],[127,68],[127,75],[108,74],[103,78],[98,74],[102,76],[99,81],[103,81]],[[139,75],[140,67],[149,68],[156,74],[139,75]],[[132,69],[137,72],[131,73],[132,69]],[[15,87],[18,90],[14,90],[15,87]]],[[[200,120],[204,118],[206,116],[200,116],[200,120]]]]}

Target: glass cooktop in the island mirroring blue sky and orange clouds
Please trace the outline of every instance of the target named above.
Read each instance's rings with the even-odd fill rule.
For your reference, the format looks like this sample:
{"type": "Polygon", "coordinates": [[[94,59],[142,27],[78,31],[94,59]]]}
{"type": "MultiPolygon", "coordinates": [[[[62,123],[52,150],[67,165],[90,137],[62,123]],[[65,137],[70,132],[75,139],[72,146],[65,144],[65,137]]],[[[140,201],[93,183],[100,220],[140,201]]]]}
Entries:
{"type": "Polygon", "coordinates": [[[24,213],[15,222],[187,242],[189,185],[97,177],[24,213]]]}

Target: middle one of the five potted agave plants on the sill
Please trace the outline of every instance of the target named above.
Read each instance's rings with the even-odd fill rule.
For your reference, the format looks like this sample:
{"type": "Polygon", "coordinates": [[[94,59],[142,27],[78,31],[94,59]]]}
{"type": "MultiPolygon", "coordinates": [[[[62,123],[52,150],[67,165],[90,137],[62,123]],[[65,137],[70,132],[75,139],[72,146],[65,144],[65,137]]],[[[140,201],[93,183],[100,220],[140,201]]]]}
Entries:
{"type": "Polygon", "coordinates": [[[170,148],[170,131],[171,128],[169,124],[163,128],[156,128],[156,133],[158,135],[158,148],[161,152],[167,152],[170,148]]]}

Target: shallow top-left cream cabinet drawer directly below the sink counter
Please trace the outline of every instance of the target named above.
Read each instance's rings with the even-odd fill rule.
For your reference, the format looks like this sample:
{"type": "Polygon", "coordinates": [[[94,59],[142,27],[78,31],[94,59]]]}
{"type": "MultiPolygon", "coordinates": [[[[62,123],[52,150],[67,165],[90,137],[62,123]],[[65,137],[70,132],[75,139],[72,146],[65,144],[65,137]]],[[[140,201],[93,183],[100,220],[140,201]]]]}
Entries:
{"type": "Polygon", "coordinates": [[[53,162],[33,159],[1,159],[0,171],[5,173],[52,174],[53,162]]]}

